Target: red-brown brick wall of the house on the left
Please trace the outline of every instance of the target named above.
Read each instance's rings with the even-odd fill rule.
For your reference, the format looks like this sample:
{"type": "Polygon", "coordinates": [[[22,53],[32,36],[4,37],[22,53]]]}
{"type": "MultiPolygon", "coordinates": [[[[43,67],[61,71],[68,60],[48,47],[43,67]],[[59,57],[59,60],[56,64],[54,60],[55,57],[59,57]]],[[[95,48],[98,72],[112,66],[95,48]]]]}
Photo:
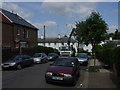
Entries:
{"type": "Polygon", "coordinates": [[[2,45],[5,47],[15,47],[14,41],[16,38],[27,41],[29,47],[33,47],[37,45],[37,30],[13,24],[2,15],[2,45]],[[20,35],[17,35],[17,29],[20,29],[20,35]],[[24,38],[24,30],[28,31],[28,38],[24,38]]]}

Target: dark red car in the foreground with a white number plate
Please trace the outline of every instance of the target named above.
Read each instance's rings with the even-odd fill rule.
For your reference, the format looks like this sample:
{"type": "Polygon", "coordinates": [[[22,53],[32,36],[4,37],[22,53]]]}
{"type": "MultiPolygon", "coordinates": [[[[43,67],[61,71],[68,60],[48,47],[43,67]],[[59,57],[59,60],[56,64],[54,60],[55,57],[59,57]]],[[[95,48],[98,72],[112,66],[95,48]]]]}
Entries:
{"type": "Polygon", "coordinates": [[[72,57],[58,58],[46,71],[46,82],[58,82],[75,85],[80,74],[78,60],[72,57]]]}

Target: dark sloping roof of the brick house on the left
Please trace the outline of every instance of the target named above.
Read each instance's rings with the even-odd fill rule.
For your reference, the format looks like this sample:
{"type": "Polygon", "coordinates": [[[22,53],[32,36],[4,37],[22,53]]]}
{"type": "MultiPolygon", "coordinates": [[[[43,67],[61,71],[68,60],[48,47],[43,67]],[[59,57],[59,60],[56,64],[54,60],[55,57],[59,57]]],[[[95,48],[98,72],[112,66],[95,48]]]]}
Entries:
{"type": "Polygon", "coordinates": [[[7,16],[13,23],[38,30],[35,26],[30,24],[29,22],[27,22],[25,19],[23,19],[22,17],[18,16],[17,14],[11,13],[11,12],[6,11],[6,10],[3,10],[1,8],[0,8],[0,11],[5,16],[7,16]]]}

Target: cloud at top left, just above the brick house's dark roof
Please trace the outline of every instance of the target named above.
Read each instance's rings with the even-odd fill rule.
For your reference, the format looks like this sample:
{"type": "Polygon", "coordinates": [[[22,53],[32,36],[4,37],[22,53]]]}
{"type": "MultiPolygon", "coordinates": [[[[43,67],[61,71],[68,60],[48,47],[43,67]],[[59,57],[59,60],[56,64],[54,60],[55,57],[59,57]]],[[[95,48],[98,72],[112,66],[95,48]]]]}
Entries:
{"type": "Polygon", "coordinates": [[[29,18],[34,15],[32,12],[28,12],[27,10],[25,11],[25,9],[22,9],[20,6],[14,3],[2,3],[2,8],[10,12],[13,11],[13,13],[17,13],[22,18],[29,18]]]}

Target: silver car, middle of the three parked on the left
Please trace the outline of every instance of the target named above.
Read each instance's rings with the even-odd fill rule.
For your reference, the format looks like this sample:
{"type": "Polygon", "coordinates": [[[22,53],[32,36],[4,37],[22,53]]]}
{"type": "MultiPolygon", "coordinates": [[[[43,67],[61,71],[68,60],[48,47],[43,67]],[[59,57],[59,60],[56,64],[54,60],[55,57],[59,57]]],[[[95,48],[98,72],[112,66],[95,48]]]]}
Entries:
{"type": "Polygon", "coordinates": [[[35,63],[45,63],[48,61],[47,55],[45,53],[35,53],[33,55],[35,63]]]}

